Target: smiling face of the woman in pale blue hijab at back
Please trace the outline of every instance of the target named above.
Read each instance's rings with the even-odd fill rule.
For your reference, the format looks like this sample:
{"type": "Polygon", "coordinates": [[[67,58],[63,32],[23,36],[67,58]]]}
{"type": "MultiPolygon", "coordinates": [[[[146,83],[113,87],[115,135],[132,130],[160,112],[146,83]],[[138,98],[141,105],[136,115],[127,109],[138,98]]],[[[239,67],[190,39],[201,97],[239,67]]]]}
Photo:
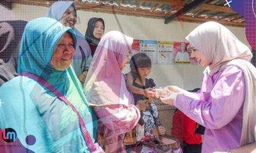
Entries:
{"type": "Polygon", "coordinates": [[[73,6],[70,6],[62,16],[63,25],[66,27],[73,28],[74,24],[76,24],[76,11],[73,6]]]}

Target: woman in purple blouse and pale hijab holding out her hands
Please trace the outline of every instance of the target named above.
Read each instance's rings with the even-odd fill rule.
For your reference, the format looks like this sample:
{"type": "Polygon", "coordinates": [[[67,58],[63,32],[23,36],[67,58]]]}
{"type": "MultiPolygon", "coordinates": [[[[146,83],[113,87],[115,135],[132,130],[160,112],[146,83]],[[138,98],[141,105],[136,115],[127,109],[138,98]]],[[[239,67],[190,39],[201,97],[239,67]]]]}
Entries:
{"type": "Polygon", "coordinates": [[[219,23],[207,22],[186,39],[191,57],[205,67],[201,91],[186,92],[176,86],[163,97],[189,118],[205,126],[202,152],[226,151],[253,143],[256,125],[256,69],[252,53],[219,23]]]}

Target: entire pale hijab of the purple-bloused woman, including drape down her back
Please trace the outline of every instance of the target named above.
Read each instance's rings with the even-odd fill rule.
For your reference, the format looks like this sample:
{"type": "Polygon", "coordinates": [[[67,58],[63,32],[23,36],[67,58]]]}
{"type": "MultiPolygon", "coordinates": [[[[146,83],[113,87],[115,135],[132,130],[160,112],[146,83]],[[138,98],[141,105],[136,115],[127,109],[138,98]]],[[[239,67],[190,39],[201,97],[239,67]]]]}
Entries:
{"type": "Polygon", "coordinates": [[[207,67],[209,75],[215,74],[227,65],[236,65],[243,71],[246,97],[240,145],[253,143],[256,125],[256,68],[249,62],[253,57],[250,49],[226,27],[214,21],[201,24],[186,39],[210,61],[211,65],[207,67]]]}

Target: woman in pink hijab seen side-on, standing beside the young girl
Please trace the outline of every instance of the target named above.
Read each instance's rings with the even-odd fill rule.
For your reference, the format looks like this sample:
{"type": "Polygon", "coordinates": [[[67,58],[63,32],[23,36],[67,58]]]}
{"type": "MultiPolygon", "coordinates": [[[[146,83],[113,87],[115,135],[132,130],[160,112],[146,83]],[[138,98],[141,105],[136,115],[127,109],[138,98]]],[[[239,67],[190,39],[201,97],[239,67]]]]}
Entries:
{"type": "Polygon", "coordinates": [[[140,101],[136,106],[127,90],[122,70],[131,51],[133,38],[118,31],[104,35],[94,54],[91,68],[84,84],[88,103],[99,118],[99,136],[106,152],[126,152],[122,144],[124,133],[136,126],[140,110],[146,106],[140,101]]]}

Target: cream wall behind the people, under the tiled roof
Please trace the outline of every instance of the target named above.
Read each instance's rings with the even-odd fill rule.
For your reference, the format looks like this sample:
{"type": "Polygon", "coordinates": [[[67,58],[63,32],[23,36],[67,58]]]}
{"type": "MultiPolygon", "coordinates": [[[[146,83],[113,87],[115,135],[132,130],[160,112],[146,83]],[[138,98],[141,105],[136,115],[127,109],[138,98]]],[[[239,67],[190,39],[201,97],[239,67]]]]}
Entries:
{"type": "MultiPolygon", "coordinates": [[[[31,20],[46,16],[48,8],[42,6],[13,5],[12,10],[0,6],[0,20],[31,20]]],[[[163,19],[150,19],[145,17],[134,17],[125,15],[114,15],[107,13],[77,12],[78,28],[82,34],[87,28],[87,21],[91,17],[102,17],[105,21],[105,32],[118,30],[134,39],[155,41],[177,41],[186,42],[186,35],[200,24],[179,23],[172,21],[164,24],[163,19]]],[[[246,43],[245,28],[227,27],[241,42],[246,43]]],[[[177,85],[190,90],[201,85],[201,73],[204,69],[197,65],[152,65],[150,78],[153,78],[158,86],[177,85]]],[[[127,65],[124,72],[129,71],[127,65]]]]}

